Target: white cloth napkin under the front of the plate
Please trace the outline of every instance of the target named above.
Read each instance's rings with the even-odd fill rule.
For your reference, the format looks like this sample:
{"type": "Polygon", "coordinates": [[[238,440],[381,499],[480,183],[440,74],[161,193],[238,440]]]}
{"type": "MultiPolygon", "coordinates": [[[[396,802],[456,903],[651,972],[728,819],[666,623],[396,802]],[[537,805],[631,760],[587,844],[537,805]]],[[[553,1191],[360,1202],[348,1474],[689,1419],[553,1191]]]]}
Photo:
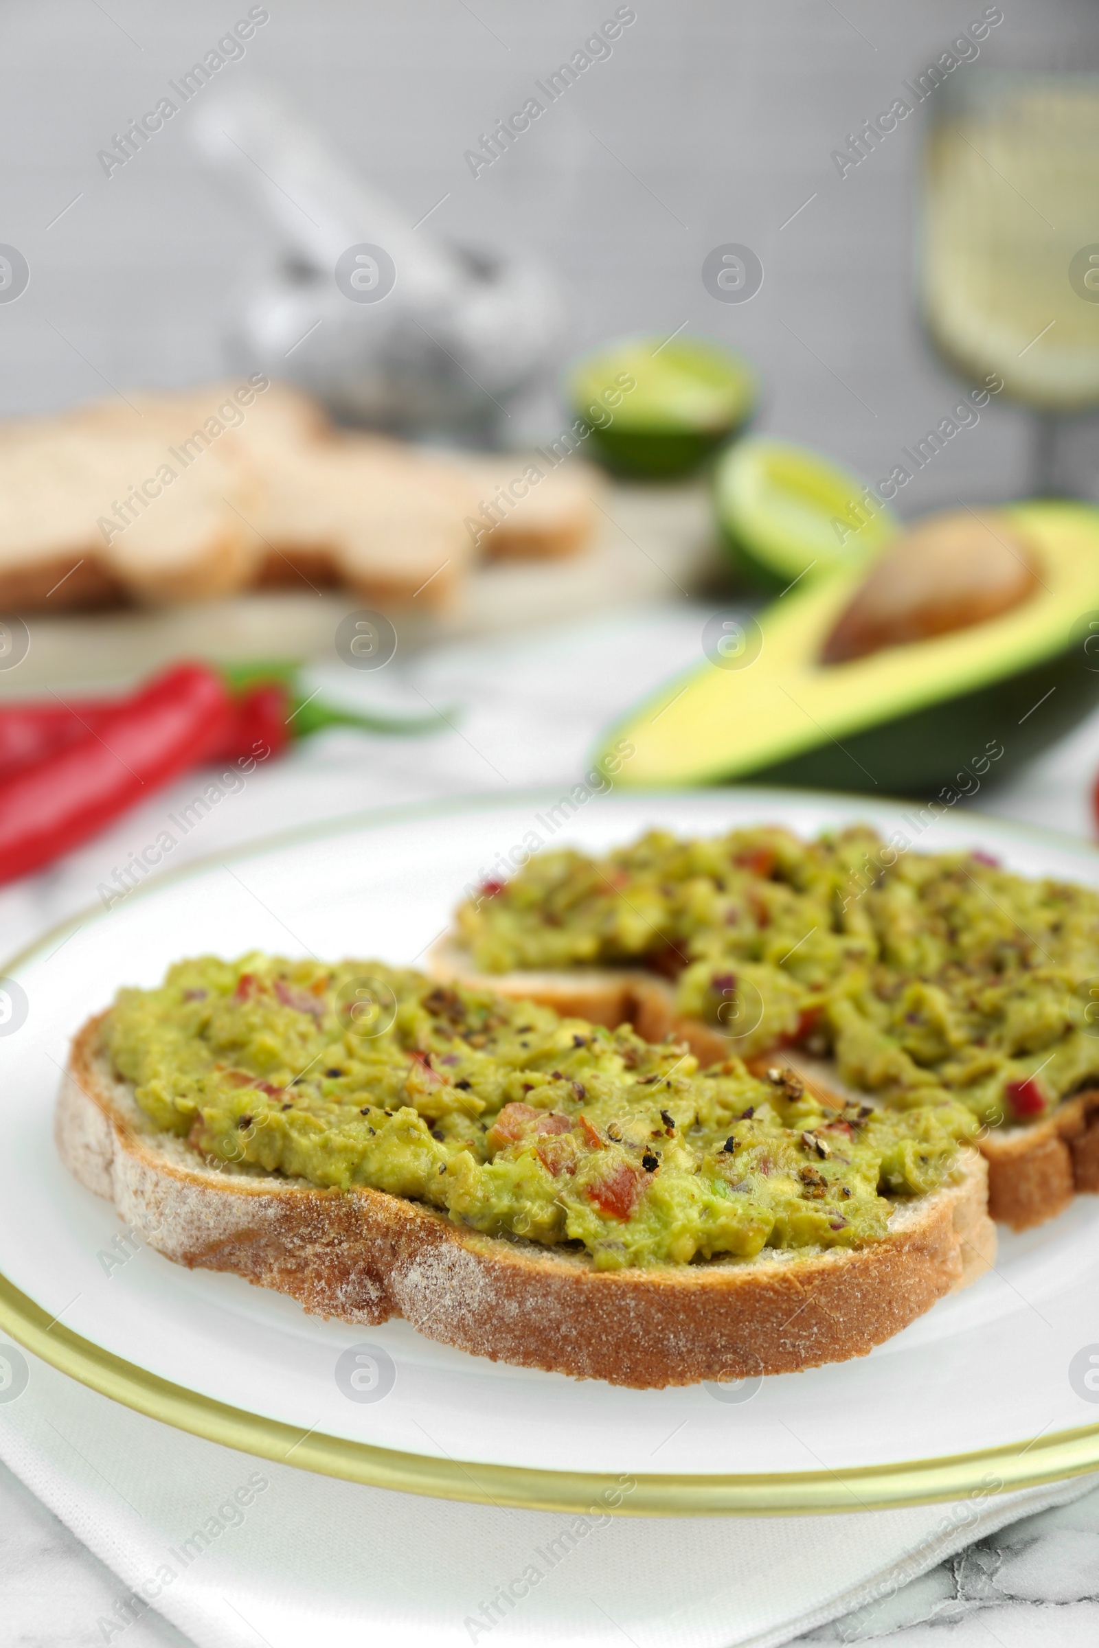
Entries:
{"type": "Polygon", "coordinates": [[[773,1648],[1096,1483],[842,1516],[460,1505],[217,1447],[25,1360],[0,1457],[119,1575],[104,1641],[155,1605],[198,1648],[773,1648]]]}

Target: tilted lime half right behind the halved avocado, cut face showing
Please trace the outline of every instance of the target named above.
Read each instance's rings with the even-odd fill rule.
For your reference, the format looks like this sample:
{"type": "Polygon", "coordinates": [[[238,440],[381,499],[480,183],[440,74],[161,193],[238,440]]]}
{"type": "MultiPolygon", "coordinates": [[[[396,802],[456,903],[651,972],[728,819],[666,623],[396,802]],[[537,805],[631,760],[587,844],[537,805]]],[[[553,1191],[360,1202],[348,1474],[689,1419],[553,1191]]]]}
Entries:
{"type": "Polygon", "coordinates": [[[862,565],[900,532],[890,506],[853,471],[766,435],[717,460],[713,509],[738,578],[773,595],[796,578],[862,565]]]}

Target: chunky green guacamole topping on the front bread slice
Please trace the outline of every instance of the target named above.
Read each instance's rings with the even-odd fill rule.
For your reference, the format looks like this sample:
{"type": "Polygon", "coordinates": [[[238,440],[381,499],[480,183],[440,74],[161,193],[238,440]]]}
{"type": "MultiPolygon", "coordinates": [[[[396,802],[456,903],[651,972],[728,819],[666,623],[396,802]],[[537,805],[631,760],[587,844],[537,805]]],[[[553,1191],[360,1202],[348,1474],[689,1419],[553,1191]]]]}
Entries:
{"type": "Polygon", "coordinates": [[[104,1023],[161,1131],[242,1173],[371,1185],[596,1269],[880,1241],[957,1165],[956,1103],[822,1107],[791,1073],[700,1073],[547,1007],[377,962],[211,956],[104,1023]]]}

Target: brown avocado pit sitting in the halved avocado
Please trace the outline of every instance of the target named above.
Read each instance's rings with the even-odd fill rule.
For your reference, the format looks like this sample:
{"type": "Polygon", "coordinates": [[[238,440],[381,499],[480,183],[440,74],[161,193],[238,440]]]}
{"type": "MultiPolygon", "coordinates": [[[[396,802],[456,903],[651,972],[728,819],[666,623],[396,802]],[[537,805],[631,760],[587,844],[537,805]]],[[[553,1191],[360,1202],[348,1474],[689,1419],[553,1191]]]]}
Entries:
{"type": "Polygon", "coordinates": [[[998,618],[1040,583],[1033,552],[1000,514],[956,509],[933,516],[885,550],[821,649],[844,664],[998,618]]]}

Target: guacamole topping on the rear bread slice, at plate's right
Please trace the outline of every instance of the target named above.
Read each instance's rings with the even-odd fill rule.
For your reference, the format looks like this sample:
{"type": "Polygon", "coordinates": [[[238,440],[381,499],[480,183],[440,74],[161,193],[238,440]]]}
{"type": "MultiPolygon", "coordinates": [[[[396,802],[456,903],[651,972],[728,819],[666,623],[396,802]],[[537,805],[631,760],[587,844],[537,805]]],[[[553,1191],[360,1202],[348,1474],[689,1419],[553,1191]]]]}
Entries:
{"type": "Polygon", "coordinates": [[[886,1104],[1030,1121],[1099,1081],[1099,895],[867,827],[539,854],[458,911],[486,972],[636,964],[745,1058],[832,1055],[886,1104]]]}

